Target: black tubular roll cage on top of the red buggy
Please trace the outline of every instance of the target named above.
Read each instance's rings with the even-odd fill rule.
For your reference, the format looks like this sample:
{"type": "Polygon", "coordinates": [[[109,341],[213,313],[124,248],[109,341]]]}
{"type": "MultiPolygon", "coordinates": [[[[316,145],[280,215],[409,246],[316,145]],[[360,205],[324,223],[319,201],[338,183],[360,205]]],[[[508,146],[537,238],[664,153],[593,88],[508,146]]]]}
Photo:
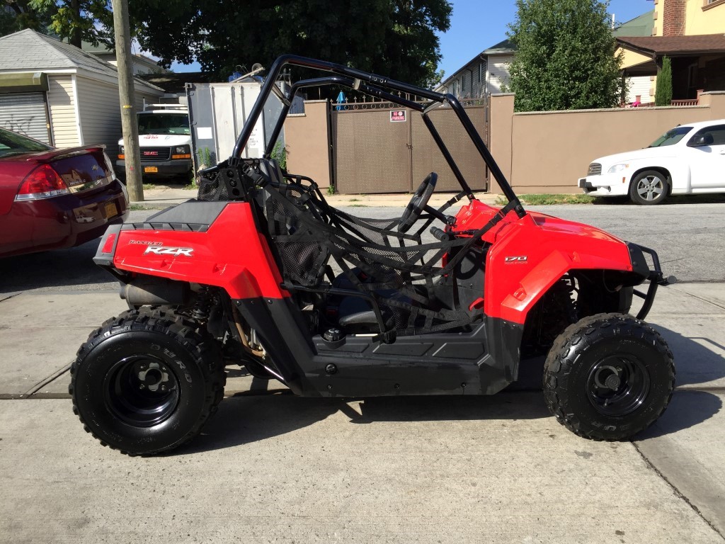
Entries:
{"type": "Polygon", "coordinates": [[[494,157],[492,156],[488,147],[486,147],[483,139],[481,139],[481,136],[476,131],[476,128],[473,126],[473,123],[471,123],[471,119],[468,118],[468,114],[466,114],[465,110],[463,109],[463,105],[460,104],[455,96],[450,93],[436,93],[435,91],[430,91],[426,88],[410,85],[409,83],[395,81],[381,75],[363,72],[362,70],[357,70],[356,68],[338,65],[334,62],[309,59],[307,57],[298,57],[297,55],[283,55],[281,57],[278,57],[278,59],[276,59],[276,61],[273,63],[268,73],[268,76],[265,79],[265,83],[262,85],[260,96],[258,96],[257,101],[254,102],[254,106],[249,112],[247,122],[244,123],[244,128],[242,128],[241,133],[239,134],[239,138],[237,138],[236,140],[236,144],[231,155],[231,160],[241,159],[241,154],[244,148],[247,146],[247,141],[249,141],[249,137],[252,135],[254,126],[256,125],[257,120],[262,114],[265,102],[270,96],[270,93],[274,93],[276,94],[276,96],[278,96],[283,104],[283,107],[277,123],[273,128],[273,132],[268,141],[267,147],[265,148],[264,158],[266,159],[271,157],[274,145],[276,144],[276,141],[282,131],[284,120],[289,113],[289,108],[291,107],[292,100],[297,95],[297,92],[303,88],[330,85],[344,86],[355,89],[356,91],[363,91],[370,96],[376,96],[380,99],[387,100],[402,107],[408,107],[411,110],[421,112],[423,123],[425,123],[428,131],[430,131],[431,136],[436,142],[436,145],[441,150],[443,157],[445,158],[446,162],[448,163],[453,172],[453,175],[457,179],[468,199],[473,200],[476,197],[474,196],[473,191],[471,191],[471,186],[469,186],[468,182],[465,181],[463,173],[461,173],[460,168],[458,168],[458,165],[453,159],[452,154],[446,147],[442,137],[440,136],[433,121],[428,115],[429,112],[435,110],[437,107],[440,107],[443,104],[448,104],[455,112],[455,115],[457,116],[458,120],[460,120],[460,123],[463,125],[465,132],[468,134],[469,138],[471,138],[471,141],[473,141],[473,144],[476,146],[476,150],[481,155],[481,158],[483,158],[486,166],[488,166],[489,170],[492,173],[492,176],[496,180],[501,191],[508,199],[508,205],[505,207],[506,213],[508,213],[508,211],[514,211],[519,218],[523,218],[526,215],[526,211],[523,209],[523,206],[521,205],[521,202],[513,191],[513,188],[503,175],[501,169],[494,160],[494,157]],[[283,91],[281,91],[276,85],[276,81],[279,78],[283,67],[285,67],[286,65],[305,67],[311,70],[321,70],[323,72],[331,72],[336,75],[328,75],[322,78],[311,78],[297,81],[296,83],[293,83],[291,85],[289,92],[287,94],[284,94],[283,91]],[[419,102],[413,102],[412,100],[405,99],[402,96],[396,96],[389,91],[399,91],[405,94],[421,96],[423,99],[428,100],[428,102],[422,104],[419,102]]]}

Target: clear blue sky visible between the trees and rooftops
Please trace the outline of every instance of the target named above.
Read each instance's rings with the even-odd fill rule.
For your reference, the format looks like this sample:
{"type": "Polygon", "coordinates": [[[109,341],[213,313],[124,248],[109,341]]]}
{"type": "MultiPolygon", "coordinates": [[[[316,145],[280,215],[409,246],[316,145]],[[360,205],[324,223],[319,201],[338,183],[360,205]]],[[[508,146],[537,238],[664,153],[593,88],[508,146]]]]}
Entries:
{"type": "MultiPolygon", "coordinates": [[[[455,73],[484,49],[506,39],[508,24],[516,14],[515,0],[452,0],[451,26],[439,35],[439,70],[455,73]]],[[[618,24],[627,22],[654,8],[653,0],[611,0],[609,13],[618,24]]],[[[294,51],[289,51],[294,53],[294,51]]],[[[173,65],[175,72],[196,72],[199,64],[173,65]]]]}

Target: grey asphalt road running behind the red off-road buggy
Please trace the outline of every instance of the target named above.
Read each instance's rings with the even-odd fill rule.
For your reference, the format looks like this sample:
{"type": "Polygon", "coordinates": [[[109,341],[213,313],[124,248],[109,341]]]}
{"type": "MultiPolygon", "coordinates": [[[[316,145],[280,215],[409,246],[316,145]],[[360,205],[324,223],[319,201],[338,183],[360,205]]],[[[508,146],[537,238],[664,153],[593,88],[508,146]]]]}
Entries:
{"type": "MultiPolygon", "coordinates": [[[[392,207],[348,207],[361,217],[400,215],[392,207]]],[[[633,205],[531,206],[572,221],[588,223],[657,251],[666,276],[679,281],[725,281],[725,203],[633,205]]],[[[130,221],[143,221],[155,210],[131,212],[130,221]]],[[[98,242],[59,250],[0,259],[0,294],[28,289],[107,290],[116,285],[91,260],[98,242]],[[49,273],[49,271],[51,273],[49,273]]]]}

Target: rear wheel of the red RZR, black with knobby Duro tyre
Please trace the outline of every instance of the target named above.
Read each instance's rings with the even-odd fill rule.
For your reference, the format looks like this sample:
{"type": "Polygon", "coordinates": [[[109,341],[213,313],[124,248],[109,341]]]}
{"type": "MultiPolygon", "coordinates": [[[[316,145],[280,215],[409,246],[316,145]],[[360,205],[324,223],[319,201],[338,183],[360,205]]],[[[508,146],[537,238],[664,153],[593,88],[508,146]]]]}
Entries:
{"type": "Polygon", "coordinates": [[[174,318],[138,312],[91,333],[70,372],[73,412],[86,431],[128,455],[191,440],[216,411],[225,384],[212,339],[174,318]]]}

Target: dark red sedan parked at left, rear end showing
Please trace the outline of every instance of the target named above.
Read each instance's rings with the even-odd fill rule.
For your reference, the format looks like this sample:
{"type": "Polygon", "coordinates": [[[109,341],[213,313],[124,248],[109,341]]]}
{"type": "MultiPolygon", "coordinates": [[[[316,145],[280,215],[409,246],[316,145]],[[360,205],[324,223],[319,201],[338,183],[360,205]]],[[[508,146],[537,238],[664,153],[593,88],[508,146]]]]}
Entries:
{"type": "Polygon", "coordinates": [[[104,146],[56,149],[0,128],[0,257],[78,246],[127,217],[104,146]]]}

